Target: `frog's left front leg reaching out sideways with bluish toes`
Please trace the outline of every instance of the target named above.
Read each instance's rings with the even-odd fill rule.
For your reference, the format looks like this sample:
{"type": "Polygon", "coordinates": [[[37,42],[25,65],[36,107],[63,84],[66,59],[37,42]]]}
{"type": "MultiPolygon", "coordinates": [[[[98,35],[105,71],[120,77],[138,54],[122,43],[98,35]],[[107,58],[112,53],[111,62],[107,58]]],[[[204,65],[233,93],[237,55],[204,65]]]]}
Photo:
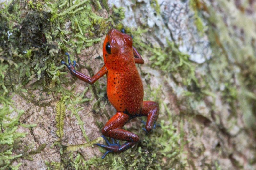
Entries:
{"type": "Polygon", "coordinates": [[[86,76],[83,73],[80,73],[79,71],[75,70],[76,61],[73,61],[74,64],[72,65],[69,54],[68,53],[65,53],[65,54],[68,56],[68,64],[65,63],[64,61],[61,61],[61,64],[65,64],[72,75],[76,76],[77,78],[79,78],[80,80],[83,80],[86,83],[89,83],[90,85],[93,84],[95,81],[97,81],[99,78],[101,78],[104,74],[108,72],[107,68],[104,65],[98,73],[92,76],[92,78],[89,76],[86,76]]]}

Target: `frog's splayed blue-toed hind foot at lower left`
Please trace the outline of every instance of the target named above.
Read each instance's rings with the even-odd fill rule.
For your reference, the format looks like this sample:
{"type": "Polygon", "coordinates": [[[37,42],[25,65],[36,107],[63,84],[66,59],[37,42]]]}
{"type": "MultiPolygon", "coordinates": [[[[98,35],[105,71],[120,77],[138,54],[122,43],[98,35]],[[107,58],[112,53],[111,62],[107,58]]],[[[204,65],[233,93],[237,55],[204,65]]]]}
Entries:
{"type": "Polygon", "coordinates": [[[118,140],[117,140],[117,142],[115,142],[115,140],[112,138],[111,138],[111,140],[112,140],[112,144],[111,144],[105,136],[102,135],[102,137],[108,144],[108,145],[99,144],[99,143],[96,144],[96,145],[98,145],[102,148],[105,148],[107,150],[107,152],[105,152],[104,155],[102,156],[102,159],[104,159],[105,156],[110,152],[113,152],[113,153],[123,152],[135,144],[135,142],[125,142],[124,144],[120,145],[118,140]]]}

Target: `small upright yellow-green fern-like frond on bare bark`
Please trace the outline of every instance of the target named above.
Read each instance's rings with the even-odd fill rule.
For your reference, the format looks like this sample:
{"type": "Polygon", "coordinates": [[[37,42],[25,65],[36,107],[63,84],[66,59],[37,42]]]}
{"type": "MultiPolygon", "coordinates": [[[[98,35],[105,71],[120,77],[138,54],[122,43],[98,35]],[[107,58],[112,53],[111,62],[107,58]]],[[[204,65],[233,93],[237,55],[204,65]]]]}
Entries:
{"type": "Polygon", "coordinates": [[[65,101],[60,100],[56,103],[56,127],[58,128],[56,134],[60,139],[62,139],[64,133],[63,133],[63,127],[64,127],[64,118],[65,118],[65,101]]]}

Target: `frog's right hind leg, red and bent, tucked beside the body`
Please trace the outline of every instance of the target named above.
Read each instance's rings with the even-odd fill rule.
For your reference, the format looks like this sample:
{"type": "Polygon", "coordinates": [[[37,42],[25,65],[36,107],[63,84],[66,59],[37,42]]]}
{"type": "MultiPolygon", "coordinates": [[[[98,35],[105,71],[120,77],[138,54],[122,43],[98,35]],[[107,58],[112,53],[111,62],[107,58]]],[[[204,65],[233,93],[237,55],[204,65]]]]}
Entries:
{"type": "Polygon", "coordinates": [[[147,116],[146,131],[150,132],[154,128],[159,114],[159,105],[154,101],[143,101],[142,110],[140,113],[142,116],[147,116]]]}

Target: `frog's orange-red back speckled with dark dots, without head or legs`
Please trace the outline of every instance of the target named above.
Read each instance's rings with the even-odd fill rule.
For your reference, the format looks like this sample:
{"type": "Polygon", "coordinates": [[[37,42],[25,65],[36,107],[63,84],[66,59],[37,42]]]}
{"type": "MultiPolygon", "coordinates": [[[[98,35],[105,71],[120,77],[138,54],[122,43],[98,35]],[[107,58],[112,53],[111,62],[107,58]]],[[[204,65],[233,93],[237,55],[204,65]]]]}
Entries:
{"type": "Polygon", "coordinates": [[[108,70],[107,95],[118,112],[140,113],[143,103],[143,84],[135,63],[108,70]]]}

